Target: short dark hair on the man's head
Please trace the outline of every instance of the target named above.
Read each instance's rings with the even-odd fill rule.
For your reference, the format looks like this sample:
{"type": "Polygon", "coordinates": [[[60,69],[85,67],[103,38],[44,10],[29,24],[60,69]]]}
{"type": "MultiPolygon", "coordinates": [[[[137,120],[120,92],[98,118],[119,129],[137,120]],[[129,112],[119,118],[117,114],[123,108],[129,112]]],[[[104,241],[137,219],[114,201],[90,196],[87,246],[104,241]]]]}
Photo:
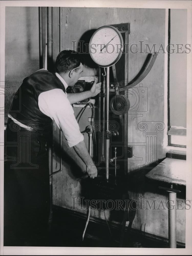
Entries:
{"type": "MultiPolygon", "coordinates": [[[[67,72],[83,64],[83,58],[76,51],[64,50],[61,51],[55,62],[55,69],[57,73],[67,72]]],[[[78,70],[78,69],[77,69],[78,70]]]]}

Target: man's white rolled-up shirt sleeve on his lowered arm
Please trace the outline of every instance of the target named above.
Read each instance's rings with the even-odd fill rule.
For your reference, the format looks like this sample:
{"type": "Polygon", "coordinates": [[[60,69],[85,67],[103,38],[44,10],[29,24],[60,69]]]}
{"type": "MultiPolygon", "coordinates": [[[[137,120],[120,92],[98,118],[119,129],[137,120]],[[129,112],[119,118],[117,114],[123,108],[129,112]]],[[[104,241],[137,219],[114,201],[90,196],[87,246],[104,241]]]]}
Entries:
{"type": "Polygon", "coordinates": [[[84,140],[73,108],[67,99],[67,94],[61,89],[40,93],[38,106],[40,111],[49,116],[61,129],[69,147],[73,147],[84,140]]]}

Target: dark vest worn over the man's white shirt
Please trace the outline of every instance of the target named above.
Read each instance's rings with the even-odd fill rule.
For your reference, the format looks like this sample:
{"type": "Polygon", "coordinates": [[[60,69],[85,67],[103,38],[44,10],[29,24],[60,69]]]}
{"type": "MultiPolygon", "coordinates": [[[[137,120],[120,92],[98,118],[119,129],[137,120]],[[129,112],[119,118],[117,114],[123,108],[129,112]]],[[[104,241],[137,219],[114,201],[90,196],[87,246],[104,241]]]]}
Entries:
{"type": "Polygon", "coordinates": [[[39,110],[38,97],[41,92],[52,89],[61,89],[65,92],[64,85],[55,74],[45,69],[31,74],[23,80],[18,89],[10,114],[20,123],[30,126],[40,133],[47,133],[50,129],[51,118],[39,110]]]}

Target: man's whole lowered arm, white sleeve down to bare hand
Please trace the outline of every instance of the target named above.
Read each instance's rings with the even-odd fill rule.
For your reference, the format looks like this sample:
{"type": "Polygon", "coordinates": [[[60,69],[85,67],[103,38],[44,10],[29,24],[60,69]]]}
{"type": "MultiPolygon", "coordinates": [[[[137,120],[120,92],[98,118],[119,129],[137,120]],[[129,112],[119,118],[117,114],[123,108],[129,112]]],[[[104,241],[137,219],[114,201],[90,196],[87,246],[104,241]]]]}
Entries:
{"type": "Polygon", "coordinates": [[[97,168],[89,155],[66,94],[61,89],[42,92],[38,98],[38,105],[40,111],[54,120],[59,129],[62,130],[69,147],[73,147],[86,164],[88,175],[91,178],[97,177],[97,168]]]}

